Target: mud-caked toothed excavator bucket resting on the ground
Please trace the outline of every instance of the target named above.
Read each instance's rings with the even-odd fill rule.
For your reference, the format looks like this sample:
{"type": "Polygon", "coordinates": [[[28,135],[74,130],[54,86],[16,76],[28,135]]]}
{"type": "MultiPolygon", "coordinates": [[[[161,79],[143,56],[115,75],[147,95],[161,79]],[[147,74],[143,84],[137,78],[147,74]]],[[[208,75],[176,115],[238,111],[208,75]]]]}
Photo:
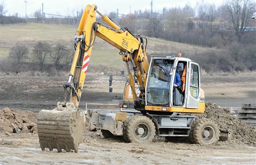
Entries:
{"type": "Polygon", "coordinates": [[[85,114],[76,111],[72,106],[58,110],[41,110],[37,118],[37,133],[42,150],[62,149],[67,152],[73,149],[78,152],[85,130],[85,114]]]}

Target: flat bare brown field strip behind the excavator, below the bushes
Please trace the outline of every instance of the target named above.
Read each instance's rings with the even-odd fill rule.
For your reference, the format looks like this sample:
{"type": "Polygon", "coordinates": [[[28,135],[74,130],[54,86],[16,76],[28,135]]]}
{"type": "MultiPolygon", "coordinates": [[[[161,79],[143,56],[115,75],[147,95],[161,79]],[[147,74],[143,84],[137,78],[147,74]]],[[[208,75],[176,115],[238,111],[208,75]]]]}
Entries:
{"type": "MultiPolygon", "coordinates": [[[[108,93],[108,79],[109,74],[90,73],[89,70],[80,101],[81,109],[85,109],[86,103],[118,104],[117,98],[108,93]]],[[[56,76],[0,73],[0,108],[33,112],[53,109],[58,101],[62,102],[64,99],[62,85],[67,80],[68,73],[56,76]]],[[[124,83],[123,76],[113,75],[112,94],[122,95],[124,83]]],[[[256,72],[202,75],[201,88],[205,91],[205,101],[215,102],[219,106],[241,107],[245,103],[256,103],[256,72]]]]}

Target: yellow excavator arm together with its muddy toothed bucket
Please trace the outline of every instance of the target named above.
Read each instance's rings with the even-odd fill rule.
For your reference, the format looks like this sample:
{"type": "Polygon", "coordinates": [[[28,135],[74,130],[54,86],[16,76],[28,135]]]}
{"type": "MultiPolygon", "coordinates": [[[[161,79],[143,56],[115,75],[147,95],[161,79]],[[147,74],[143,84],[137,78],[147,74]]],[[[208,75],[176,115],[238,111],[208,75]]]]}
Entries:
{"type": "Polygon", "coordinates": [[[75,35],[76,51],[69,80],[63,85],[64,101],[58,102],[53,110],[41,110],[38,114],[37,132],[42,150],[55,148],[59,152],[62,149],[69,152],[74,149],[78,152],[85,130],[85,114],[79,111],[78,106],[96,36],[120,50],[119,54],[128,68],[133,99],[137,99],[134,84],[139,83],[140,98],[137,100],[141,101],[139,105],[143,105],[149,71],[143,38],[134,36],[127,28],[118,27],[110,18],[98,12],[96,5],[87,5],[75,35]],[[97,22],[96,13],[108,25],[97,22]],[[130,71],[128,63],[132,64],[133,72],[130,71]]]}

